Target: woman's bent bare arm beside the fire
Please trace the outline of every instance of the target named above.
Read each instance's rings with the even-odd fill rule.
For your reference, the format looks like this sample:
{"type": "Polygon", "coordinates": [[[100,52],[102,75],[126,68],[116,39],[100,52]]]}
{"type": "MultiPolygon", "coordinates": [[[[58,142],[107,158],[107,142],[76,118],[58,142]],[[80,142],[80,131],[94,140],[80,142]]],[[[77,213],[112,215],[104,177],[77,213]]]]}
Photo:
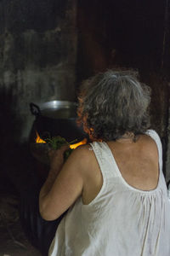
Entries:
{"type": "Polygon", "coordinates": [[[82,195],[83,150],[75,149],[64,166],[63,152],[56,152],[48,178],[40,191],[39,209],[46,220],[59,218],[82,195]]]}

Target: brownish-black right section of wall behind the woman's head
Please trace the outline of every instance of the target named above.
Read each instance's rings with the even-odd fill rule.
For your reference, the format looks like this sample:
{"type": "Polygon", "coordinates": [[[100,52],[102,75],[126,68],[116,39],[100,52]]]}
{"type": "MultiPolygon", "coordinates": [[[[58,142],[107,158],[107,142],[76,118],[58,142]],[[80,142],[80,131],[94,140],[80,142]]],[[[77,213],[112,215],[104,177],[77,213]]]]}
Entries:
{"type": "Polygon", "coordinates": [[[152,89],[152,126],[166,137],[167,1],[79,1],[78,78],[106,68],[138,69],[152,89]],[[165,52],[166,50],[166,52],[165,52]]]}

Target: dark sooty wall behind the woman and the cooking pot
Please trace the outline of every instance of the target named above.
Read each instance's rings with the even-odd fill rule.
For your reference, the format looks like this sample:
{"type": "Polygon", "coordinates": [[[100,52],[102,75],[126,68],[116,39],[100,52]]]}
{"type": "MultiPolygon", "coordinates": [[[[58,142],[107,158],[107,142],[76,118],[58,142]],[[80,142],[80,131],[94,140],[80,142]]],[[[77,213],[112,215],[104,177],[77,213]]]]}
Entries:
{"type": "Polygon", "coordinates": [[[151,125],[168,169],[169,22],[168,0],[1,0],[2,158],[28,143],[30,102],[76,101],[83,79],[132,67],[152,89],[151,125]]]}

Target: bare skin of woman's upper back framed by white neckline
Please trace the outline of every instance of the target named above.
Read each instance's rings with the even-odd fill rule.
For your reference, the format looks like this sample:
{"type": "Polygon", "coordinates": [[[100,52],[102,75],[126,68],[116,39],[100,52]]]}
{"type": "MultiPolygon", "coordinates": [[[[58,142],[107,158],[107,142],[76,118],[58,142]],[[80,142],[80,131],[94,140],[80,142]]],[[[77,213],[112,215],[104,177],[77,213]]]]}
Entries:
{"type": "Polygon", "coordinates": [[[147,135],[139,136],[136,143],[123,140],[108,143],[122,177],[136,189],[156,189],[159,156],[155,141],[147,135]]]}

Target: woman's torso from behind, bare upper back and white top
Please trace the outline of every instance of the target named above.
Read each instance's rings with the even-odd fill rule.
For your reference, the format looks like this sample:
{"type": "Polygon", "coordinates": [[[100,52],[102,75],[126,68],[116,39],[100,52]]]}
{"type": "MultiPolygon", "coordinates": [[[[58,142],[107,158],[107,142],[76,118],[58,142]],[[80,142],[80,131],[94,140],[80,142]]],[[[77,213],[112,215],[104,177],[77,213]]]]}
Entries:
{"type": "Polygon", "coordinates": [[[142,136],[134,147],[92,143],[91,181],[59,224],[49,255],[170,255],[161,142],[147,133],[154,140],[142,136]]]}

